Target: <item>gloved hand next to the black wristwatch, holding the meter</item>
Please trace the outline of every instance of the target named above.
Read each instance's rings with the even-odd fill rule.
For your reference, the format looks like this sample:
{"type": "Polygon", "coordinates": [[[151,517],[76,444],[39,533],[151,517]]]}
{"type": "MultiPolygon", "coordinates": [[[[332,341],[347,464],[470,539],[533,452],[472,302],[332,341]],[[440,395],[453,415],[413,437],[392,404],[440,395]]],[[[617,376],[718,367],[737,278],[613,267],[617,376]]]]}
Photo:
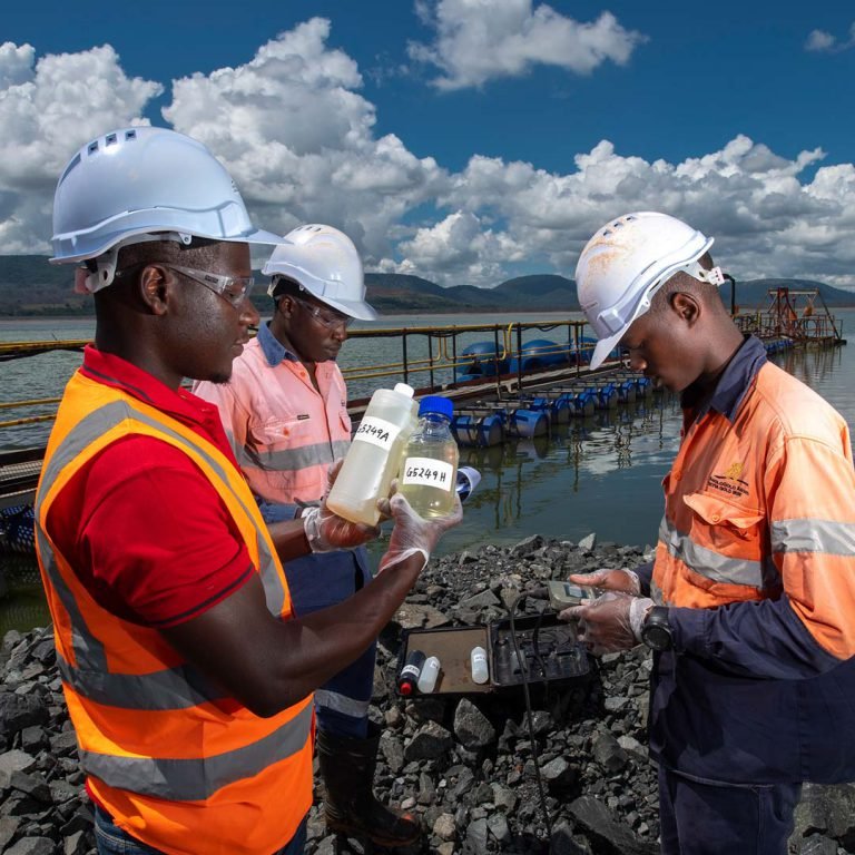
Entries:
{"type": "Polygon", "coordinates": [[[561,620],[579,623],[578,638],[594,656],[629,650],[641,641],[641,627],[653,601],[621,591],[607,591],[589,606],[572,606],[561,620]]]}

